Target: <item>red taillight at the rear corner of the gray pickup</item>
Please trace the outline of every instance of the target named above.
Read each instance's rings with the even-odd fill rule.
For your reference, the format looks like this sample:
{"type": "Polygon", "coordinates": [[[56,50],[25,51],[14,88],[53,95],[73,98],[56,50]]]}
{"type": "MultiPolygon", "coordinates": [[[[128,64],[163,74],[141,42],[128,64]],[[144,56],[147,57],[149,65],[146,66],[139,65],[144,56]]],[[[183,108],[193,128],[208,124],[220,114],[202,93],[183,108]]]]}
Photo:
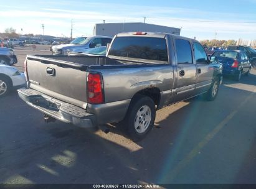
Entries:
{"type": "Polygon", "coordinates": [[[99,73],[89,73],[87,76],[87,103],[104,103],[103,82],[99,73]]]}

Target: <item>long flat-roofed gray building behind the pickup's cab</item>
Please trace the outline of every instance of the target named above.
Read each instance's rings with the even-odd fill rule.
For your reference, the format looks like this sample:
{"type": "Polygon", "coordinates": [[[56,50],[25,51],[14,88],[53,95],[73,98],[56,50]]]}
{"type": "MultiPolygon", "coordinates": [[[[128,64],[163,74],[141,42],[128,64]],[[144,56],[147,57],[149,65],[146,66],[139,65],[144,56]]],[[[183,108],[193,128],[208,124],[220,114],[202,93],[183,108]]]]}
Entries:
{"type": "Polygon", "coordinates": [[[113,37],[121,32],[163,32],[168,34],[180,35],[181,29],[163,25],[145,23],[103,23],[95,24],[93,35],[105,35],[113,37]]]}

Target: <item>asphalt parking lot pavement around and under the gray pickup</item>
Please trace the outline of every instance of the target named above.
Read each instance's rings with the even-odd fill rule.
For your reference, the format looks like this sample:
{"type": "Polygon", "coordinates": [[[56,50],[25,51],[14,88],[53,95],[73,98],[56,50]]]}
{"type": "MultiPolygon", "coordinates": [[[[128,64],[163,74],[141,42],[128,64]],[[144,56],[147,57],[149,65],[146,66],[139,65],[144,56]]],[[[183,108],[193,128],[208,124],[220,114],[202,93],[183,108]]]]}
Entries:
{"type": "MultiPolygon", "coordinates": [[[[21,70],[26,49],[14,49],[21,70]]],[[[0,99],[0,183],[256,184],[255,98],[256,70],[239,83],[225,78],[215,101],[160,109],[148,136],[133,142],[116,124],[108,134],[46,124],[13,91],[0,99]]]]}

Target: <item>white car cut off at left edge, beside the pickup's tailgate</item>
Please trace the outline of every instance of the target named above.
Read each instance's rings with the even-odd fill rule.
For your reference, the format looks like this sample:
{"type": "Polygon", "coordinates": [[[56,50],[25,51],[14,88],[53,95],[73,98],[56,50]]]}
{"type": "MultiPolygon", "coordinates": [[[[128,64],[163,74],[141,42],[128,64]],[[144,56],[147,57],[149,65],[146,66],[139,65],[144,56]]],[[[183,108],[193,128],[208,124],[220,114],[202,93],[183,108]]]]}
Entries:
{"type": "Polygon", "coordinates": [[[0,98],[10,90],[21,88],[25,84],[24,73],[16,68],[0,63],[0,98]]]}

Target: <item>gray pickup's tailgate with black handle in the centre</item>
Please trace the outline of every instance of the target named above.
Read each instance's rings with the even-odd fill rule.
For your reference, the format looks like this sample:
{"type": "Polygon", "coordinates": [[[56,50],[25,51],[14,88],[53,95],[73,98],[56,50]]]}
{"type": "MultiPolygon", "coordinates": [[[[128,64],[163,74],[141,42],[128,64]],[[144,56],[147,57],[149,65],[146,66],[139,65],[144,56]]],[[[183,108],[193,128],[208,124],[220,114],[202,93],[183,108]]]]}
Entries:
{"type": "Polygon", "coordinates": [[[30,88],[74,104],[87,106],[87,71],[73,63],[54,61],[40,57],[27,57],[27,73],[30,88]]]}

